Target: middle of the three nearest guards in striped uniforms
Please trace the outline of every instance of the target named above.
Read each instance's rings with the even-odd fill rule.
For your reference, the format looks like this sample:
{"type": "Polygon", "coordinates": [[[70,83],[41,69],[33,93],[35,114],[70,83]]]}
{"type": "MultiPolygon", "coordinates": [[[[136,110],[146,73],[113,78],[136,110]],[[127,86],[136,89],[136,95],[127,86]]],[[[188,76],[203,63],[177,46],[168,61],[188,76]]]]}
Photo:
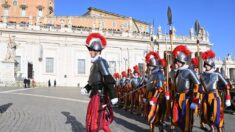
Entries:
{"type": "Polygon", "coordinates": [[[174,63],[178,69],[175,76],[176,96],[172,108],[172,123],[184,132],[192,130],[193,110],[197,108],[196,96],[200,84],[195,73],[188,68],[190,55],[191,52],[184,45],[173,50],[174,63]]]}

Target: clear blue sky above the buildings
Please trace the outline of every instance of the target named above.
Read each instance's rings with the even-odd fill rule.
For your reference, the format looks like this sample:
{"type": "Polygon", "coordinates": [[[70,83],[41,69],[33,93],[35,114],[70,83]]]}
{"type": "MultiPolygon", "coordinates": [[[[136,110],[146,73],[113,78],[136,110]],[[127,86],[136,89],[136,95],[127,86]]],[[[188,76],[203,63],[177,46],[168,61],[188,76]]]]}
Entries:
{"type": "Polygon", "coordinates": [[[235,0],[55,0],[56,16],[79,16],[88,7],[167,27],[167,7],[178,35],[188,35],[196,19],[209,32],[217,57],[235,57],[235,0]]]}

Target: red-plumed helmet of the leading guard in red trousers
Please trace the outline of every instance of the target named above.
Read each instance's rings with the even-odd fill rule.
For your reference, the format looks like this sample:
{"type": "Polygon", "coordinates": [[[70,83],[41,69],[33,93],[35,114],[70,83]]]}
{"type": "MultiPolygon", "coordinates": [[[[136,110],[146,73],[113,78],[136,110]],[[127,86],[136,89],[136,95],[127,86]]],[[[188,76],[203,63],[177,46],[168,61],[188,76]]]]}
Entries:
{"type": "Polygon", "coordinates": [[[106,39],[99,33],[91,33],[86,39],[88,50],[101,51],[106,46],[106,39]]]}

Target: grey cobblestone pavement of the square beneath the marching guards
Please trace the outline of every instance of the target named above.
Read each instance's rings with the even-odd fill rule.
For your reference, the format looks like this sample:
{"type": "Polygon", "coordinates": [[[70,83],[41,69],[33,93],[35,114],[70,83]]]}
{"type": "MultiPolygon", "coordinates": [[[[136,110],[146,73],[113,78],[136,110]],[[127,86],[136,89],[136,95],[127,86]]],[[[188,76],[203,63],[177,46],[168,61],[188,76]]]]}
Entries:
{"type": "MultiPolygon", "coordinates": [[[[85,132],[88,101],[79,88],[0,87],[0,132],[85,132]]],[[[113,132],[149,131],[143,117],[118,108],[114,111],[113,132]]],[[[226,113],[225,122],[225,131],[234,132],[235,115],[226,113]]],[[[202,131],[198,119],[193,131],[202,131]]]]}

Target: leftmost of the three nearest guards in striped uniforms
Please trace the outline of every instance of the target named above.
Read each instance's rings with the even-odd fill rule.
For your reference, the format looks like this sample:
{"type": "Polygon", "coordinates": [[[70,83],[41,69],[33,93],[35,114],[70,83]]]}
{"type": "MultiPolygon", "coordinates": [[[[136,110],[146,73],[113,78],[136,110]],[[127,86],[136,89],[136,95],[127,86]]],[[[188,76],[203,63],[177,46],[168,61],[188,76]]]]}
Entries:
{"type": "Polygon", "coordinates": [[[164,88],[164,76],[161,70],[163,61],[158,53],[149,52],[146,55],[146,63],[151,69],[151,75],[149,82],[147,83],[147,89],[153,91],[154,95],[150,101],[151,109],[148,115],[148,121],[150,124],[150,131],[154,132],[155,125],[159,127],[159,131],[163,131],[164,115],[166,111],[166,89],[164,88]]]}

